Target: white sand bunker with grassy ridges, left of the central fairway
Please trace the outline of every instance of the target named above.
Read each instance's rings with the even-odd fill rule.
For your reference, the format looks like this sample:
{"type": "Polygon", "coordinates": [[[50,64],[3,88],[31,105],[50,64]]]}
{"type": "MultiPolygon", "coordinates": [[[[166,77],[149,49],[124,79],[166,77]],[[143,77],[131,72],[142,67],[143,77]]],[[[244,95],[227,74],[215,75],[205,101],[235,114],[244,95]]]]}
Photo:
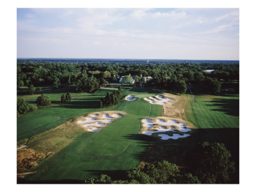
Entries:
{"type": "MultiPolygon", "coordinates": [[[[116,111],[118,112],[118,111],[116,111]]],[[[109,123],[116,120],[116,118],[120,118],[124,115],[124,112],[122,113],[115,113],[115,111],[104,111],[99,112],[97,114],[90,113],[87,116],[84,116],[84,120],[78,120],[77,124],[82,124],[86,131],[95,132],[99,131],[103,127],[106,127],[109,123]]]]}

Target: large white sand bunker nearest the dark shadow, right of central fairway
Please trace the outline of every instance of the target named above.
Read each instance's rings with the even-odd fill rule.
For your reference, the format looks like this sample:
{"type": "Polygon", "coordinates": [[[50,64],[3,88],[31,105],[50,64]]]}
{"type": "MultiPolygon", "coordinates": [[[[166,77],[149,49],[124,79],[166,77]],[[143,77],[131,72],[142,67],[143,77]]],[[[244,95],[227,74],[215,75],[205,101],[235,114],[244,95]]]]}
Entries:
{"type": "Polygon", "coordinates": [[[183,132],[191,131],[188,129],[184,123],[179,123],[175,120],[168,120],[162,118],[156,118],[154,120],[150,118],[144,118],[141,120],[143,124],[143,132],[142,134],[147,134],[148,136],[152,136],[154,133],[163,133],[169,132],[172,136],[168,134],[158,134],[161,137],[161,140],[177,140],[179,138],[184,138],[190,136],[190,134],[182,134],[183,132]],[[179,134],[179,132],[181,132],[179,134]]]}

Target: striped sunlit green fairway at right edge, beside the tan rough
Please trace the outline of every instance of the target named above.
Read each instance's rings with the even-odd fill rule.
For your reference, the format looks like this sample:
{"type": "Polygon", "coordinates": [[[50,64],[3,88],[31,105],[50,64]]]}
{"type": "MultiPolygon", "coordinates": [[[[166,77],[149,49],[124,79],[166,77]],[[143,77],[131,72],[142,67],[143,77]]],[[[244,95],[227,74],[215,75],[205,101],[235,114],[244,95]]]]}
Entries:
{"type": "Polygon", "coordinates": [[[198,128],[239,128],[239,95],[195,95],[187,118],[198,128]]]}

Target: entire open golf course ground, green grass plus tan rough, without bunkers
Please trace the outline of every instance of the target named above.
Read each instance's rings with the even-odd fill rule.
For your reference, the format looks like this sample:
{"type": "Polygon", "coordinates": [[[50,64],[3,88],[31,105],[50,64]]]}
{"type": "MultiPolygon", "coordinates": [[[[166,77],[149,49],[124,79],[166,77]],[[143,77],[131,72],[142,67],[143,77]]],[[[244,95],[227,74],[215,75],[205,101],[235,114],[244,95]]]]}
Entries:
{"type": "MultiPolygon", "coordinates": [[[[178,96],[133,87],[123,90],[123,98],[134,95],[137,100],[122,99],[113,108],[97,108],[97,100],[107,91],[111,93],[113,88],[102,88],[95,93],[71,93],[72,101],[67,104],[60,103],[61,93],[48,93],[54,99],[51,107],[18,118],[18,140],[28,139],[20,145],[49,155],[36,168],[37,173],[26,175],[26,179],[74,182],[102,173],[120,179],[124,171],[138,166],[141,161],[162,159],[184,166],[189,150],[202,141],[225,143],[233,160],[239,162],[239,129],[232,129],[239,127],[237,95],[195,95],[193,101],[191,95],[178,96]],[[161,106],[144,100],[159,94],[170,96],[172,101],[161,106]],[[220,100],[227,103],[218,104],[220,100]],[[125,115],[97,132],[86,132],[72,124],[81,115],[108,110],[123,111],[125,115]],[[187,121],[191,127],[200,129],[193,129],[191,136],[178,140],[160,140],[141,134],[141,119],[156,116],[180,118],[181,122],[187,121]]],[[[25,98],[31,103],[36,99],[31,95],[25,98]]],[[[238,169],[238,163],[236,165],[238,169]]],[[[234,176],[234,180],[238,180],[237,177],[234,176]]]]}

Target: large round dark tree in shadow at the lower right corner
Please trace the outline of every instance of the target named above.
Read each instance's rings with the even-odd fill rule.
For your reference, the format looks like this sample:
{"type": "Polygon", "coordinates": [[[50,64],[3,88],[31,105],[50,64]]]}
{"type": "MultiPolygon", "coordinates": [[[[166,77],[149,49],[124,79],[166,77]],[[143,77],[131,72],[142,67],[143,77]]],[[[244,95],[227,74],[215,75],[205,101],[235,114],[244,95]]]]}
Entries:
{"type": "Polygon", "coordinates": [[[199,143],[191,155],[190,166],[202,183],[225,184],[235,172],[231,154],[223,143],[199,143]]]}

